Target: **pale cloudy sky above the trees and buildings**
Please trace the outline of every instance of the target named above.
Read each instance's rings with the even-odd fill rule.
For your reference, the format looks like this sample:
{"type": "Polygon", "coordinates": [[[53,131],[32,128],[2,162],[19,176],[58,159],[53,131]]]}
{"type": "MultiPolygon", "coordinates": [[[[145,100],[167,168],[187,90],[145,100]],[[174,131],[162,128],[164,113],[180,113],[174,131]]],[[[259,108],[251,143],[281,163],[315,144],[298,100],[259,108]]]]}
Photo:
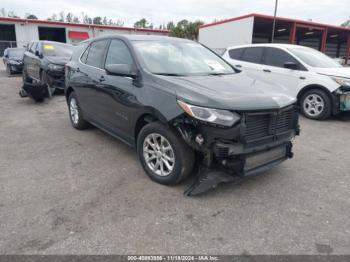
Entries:
{"type": "MultiPolygon", "coordinates": [[[[212,22],[247,13],[273,14],[275,0],[1,0],[0,8],[20,16],[34,13],[46,19],[59,11],[73,12],[79,18],[107,16],[131,26],[146,18],[154,25],[181,19],[212,22]]],[[[278,15],[339,25],[350,19],[350,0],[279,0],[278,15]]]]}

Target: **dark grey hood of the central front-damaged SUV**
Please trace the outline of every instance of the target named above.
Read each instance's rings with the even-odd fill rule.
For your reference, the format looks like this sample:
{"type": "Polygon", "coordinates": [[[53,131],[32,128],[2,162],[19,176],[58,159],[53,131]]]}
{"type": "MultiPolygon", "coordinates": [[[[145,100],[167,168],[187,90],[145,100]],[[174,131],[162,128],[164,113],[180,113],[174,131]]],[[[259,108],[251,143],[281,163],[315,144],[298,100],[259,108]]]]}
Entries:
{"type": "Polygon", "coordinates": [[[173,90],[180,100],[217,109],[269,110],[296,102],[281,93],[280,85],[255,80],[242,72],[221,76],[156,76],[155,81],[173,90]]]}

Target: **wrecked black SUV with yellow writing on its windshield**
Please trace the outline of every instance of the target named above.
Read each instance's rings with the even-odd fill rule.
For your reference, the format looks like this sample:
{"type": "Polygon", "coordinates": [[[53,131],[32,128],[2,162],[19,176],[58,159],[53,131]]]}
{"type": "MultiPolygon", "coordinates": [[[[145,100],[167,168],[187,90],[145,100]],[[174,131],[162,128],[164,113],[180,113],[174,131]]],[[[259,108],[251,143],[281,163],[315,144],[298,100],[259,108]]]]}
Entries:
{"type": "Polygon", "coordinates": [[[32,42],[23,58],[23,89],[34,100],[52,96],[56,89],[64,90],[64,66],[73,46],[52,41],[32,42]]]}

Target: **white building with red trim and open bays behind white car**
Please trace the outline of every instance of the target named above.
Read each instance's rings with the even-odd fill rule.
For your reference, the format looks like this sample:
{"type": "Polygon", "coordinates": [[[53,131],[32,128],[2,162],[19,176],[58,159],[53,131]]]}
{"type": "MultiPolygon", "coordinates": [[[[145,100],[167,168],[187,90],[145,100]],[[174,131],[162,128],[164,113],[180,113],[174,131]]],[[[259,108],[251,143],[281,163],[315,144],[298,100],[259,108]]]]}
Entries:
{"type": "MultiPolygon", "coordinates": [[[[199,42],[213,49],[270,43],[273,20],[273,16],[248,14],[205,24],[199,29],[199,42]]],[[[341,26],[276,17],[274,42],[312,47],[331,57],[350,56],[350,28],[341,26]]]]}

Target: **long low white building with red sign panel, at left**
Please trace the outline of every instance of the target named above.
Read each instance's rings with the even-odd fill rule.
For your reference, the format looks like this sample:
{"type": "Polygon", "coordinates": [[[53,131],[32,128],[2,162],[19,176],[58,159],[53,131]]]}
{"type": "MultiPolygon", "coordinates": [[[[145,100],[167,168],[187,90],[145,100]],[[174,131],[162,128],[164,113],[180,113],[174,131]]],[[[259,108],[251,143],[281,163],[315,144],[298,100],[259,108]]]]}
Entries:
{"type": "Polygon", "coordinates": [[[168,35],[168,33],[167,30],[159,29],[0,17],[0,54],[6,47],[20,47],[38,40],[76,43],[91,37],[110,34],[168,35]]]}

